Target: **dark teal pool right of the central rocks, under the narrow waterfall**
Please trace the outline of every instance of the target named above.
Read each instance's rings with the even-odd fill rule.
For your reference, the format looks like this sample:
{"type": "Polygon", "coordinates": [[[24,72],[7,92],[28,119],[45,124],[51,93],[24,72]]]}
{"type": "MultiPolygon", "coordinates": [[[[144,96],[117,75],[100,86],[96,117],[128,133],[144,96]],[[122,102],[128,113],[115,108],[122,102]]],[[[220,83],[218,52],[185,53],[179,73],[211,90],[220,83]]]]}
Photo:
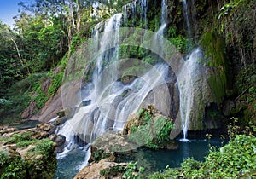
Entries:
{"type": "Polygon", "coordinates": [[[137,151],[120,156],[119,162],[137,161],[138,166],[143,166],[146,173],[164,170],[166,165],[170,168],[180,167],[184,159],[194,158],[204,161],[209,153],[209,144],[211,146],[220,147],[221,140],[213,138],[210,141],[206,139],[193,139],[189,141],[177,140],[177,150],[150,150],[139,148],[137,151]]]}

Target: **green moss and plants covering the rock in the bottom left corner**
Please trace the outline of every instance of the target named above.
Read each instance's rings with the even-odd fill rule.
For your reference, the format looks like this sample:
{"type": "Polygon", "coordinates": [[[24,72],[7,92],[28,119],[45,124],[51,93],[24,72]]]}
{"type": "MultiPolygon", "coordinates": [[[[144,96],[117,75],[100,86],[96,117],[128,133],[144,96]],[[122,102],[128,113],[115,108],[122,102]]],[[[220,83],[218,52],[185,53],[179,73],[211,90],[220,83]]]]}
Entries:
{"type": "Polygon", "coordinates": [[[45,138],[33,139],[32,132],[14,134],[3,138],[9,144],[24,148],[32,145],[25,156],[9,156],[7,151],[0,151],[1,178],[53,178],[56,169],[54,142],[45,138]]]}

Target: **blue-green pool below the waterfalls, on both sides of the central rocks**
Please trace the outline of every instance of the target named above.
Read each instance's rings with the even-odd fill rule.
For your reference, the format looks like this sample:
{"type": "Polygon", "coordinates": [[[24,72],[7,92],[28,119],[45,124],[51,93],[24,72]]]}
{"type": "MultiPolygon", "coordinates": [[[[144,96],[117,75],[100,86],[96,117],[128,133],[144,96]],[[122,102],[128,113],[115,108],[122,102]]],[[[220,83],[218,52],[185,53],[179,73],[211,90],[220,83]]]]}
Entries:
{"type": "MultiPolygon", "coordinates": [[[[211,144],[211,146],[220,147],[221,140],[219,138],[212,138],[210,141],[206,139],[191,139],[189,141],[177,139],[177,144],[177,150],[149,150],[146,148],[138,148],[132,153],[119,156],[117,161],[137,161],[138,166],[145,168],[146,174],[153,173],[154,171],[164,170],[166,165],[169,165],[170,168],[179,167],[183,159],[194,158],[203,161],[209,152],[209,144],[211,144]]],[[[73,178],[85,165],[85,158],[86,151],[82,148],[78,148],[58,159],[55,179],[73,178]]]]}

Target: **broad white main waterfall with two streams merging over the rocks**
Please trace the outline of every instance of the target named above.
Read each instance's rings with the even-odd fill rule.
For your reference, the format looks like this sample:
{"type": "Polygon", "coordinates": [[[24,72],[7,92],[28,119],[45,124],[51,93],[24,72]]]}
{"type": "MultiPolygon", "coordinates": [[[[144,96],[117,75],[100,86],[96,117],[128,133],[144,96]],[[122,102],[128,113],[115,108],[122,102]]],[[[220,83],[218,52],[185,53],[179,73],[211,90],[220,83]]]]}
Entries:
{"type": "MultiPolygon", "coordinates": [[[[142,4],[147,4],[142,1],[142,4]]],[[[134,4],[134,3],[131,3],[134,4]]],[[[143,7],[144,7],[143,5],[143,7]]],[[[133,7],[133,6],[131,6],[133,7]]],[[[146,12],[143,11],[143,14],[146,12]]],[[[143,16],[145,18],[145,16],[143,16]]],[[[79,109],[72,118],[58,130],[58,134],[66,136],[68,146],[65,153],[77,147],[76,140],[90,144],[97,136],[108,130],[122,130],[131,113],[137,113],[143,101],[154,88],[166,84],[169,66],[157,64],[143,66],[147,71],[130,84],[123,84],[119,79],[119,27],[122,14],[115,14],[105,23],[93,29],[94,49],[102,52],[96,57],[92,81],[84,88],[84,98],[79,109]],[[104,25],[102,34],[101,26],[104,25]],[[106,50],[108,49],[108,50],[106,50]],[[85,102],[84,101],[90,101],[85,102]]],[[[65,154],[63,153],[63,154],[65,154]]]]}

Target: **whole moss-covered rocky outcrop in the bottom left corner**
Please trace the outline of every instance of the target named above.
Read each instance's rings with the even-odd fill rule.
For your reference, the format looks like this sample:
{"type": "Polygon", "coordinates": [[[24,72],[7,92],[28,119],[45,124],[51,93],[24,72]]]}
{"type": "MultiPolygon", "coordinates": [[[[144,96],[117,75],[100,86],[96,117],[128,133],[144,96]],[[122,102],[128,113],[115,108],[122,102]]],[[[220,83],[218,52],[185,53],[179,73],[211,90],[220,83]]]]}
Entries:
{"type": "Polygon", "coordinates": [[[38,124],[36,128],[20,131],[4,130],[0,136],[1,178],[53,178],[57,164],[55,152],[65,142],[64,136],[52,135],[54,130],[54,124],[38,124]]]}

